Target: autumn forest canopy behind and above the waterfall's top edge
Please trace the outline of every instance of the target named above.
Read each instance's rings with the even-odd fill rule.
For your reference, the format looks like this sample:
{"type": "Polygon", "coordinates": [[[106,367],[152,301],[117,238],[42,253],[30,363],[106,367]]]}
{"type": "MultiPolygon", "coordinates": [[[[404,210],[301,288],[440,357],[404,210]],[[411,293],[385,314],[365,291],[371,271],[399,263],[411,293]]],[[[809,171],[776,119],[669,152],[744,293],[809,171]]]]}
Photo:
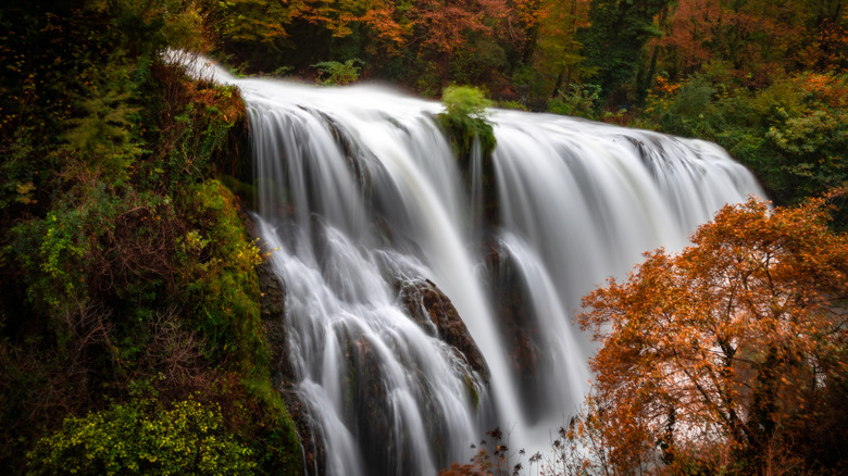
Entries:
{"type": "MultiPolygon", "coordinates": [[[[844,0],[239,0],[201,10],[213,50],[238,72],[308,78],[316,65],[356,61],[359,77],[425,96],[476,86],[504,108],[713,140],[778,204],[848,177],[844,0]]],[[[835,226],[845,227],[839,200],[835,226]]]]}

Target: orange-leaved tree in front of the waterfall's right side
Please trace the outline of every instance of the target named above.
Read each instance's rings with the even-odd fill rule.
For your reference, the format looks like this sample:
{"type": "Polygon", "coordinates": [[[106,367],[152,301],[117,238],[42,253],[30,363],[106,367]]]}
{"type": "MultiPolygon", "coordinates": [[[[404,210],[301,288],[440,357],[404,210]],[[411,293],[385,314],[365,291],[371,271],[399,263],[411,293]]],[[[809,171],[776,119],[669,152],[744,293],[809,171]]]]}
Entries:
{"type": "Polygon", "coordinates": [[[824,199],[728,205],[584,298],[602,343],[586,426],[608,469],[846,468],[848,235],[828,218],[824,199]]]}

